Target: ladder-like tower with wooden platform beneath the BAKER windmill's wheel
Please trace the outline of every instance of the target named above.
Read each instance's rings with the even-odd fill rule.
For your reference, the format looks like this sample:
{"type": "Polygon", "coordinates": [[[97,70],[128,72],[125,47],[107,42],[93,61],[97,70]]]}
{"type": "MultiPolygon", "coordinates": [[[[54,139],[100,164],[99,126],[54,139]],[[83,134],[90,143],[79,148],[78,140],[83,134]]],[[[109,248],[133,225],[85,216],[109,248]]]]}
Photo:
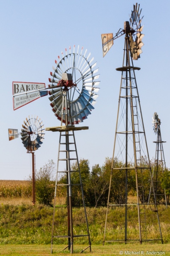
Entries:
{"type": "MultiPolygon", "coordinates": [[[[67,111],[69,106],[67,106],[67,92],[63,92],[63,110],[67,111]]],[[[65,247],[63,250],[68,248],[70,250],[70,253],[73,253],[73,246],[74,246],[74,239],[76,237],[88,237],[88,243],[89,246],[87,248],[90,248],[91,251],[91,240],[90,240],[90,233],[89,233],[89,228],[88,228],[88,219],[87,219],[87,214],[86,214],[86,208],[85,208],[85,200],[84,200],[84,194],[83,194],[83,186],[82,186],[82,179],[81,179],[81,173],[80,173],[80,168],[79,168],[79,160],[78,160],[78,154],[77,154],[77,146],[76,146],[76,141],[75,141],[75,136],[74,136],[74,131],[76,130],[81,130],[81,127],[76,128],[73,125],[68,125],[68,119],[66,119],[65,126],[60,126],[57,127],[56,131],[60,132],[59,136],[59,150],[58,150],[58,161],[57,161],[57,175],[56,175],[56,186],[55,186],[55,195],[54,195],[54,211],[53,211],[53,222],[52,222],[52,235],[51,235],[51,253],[53,252],[53,241],[54,238],[66,238],[68,239],[68,246],[65,247]],[[64,148],[63,148],[64,147],[64,148]],[[63,157],[63,154],[65,155],[63,157]],[[63,170],[63,165],[61,168],[61,162],[65,163],[65,169],[63,170]],[[71,163],[77,163],[78,170],[72,170],[71,169],[71,163]],[[79,174],[79,183],[74,184],[71,177],[72,175],[77,172],[79,174]],[[66,176],[66,183],[61,184],[58,183],[59,180],[59,174],[65,175],[66,176]],[[67,216],[68,216],[68,221],[67,221],[67,234],[59,234],[59,231],[57,228],[55,229],[55,212],[57,212],[56,208],[56,198],[57,198],[57,188],[59,186],[66,187],[67,190],[67,216]],[[83,208],[84,208],[84,214],[85,214],[85,223],[86,223],[86,234],[79,234],[75,235],[74,234],[74,223],[73,223],[73,207],[72,207],[72,188],[74,186],[79,186],[81,193],[82,193],[82,203],[83,203],[83,208]],[[55,229],[55,230],[54,230],[55,229]],[[57,236],[54,235],[55,232],[58,232],[57,236]]],[[[84,129],[84,128],[82,128],[84,129]]],[[[86,250],[85,248],[84,250],[86,250]]],[[[82,251],[84,251],[82,250],[82,251]]]]}

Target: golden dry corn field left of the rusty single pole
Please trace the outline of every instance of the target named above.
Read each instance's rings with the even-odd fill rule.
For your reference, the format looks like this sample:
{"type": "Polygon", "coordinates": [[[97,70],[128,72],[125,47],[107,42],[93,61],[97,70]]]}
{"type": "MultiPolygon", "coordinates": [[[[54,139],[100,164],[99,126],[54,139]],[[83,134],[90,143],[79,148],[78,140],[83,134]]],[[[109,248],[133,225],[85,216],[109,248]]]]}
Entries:
{"type": "Polygon", "coordinates": [[[32,183],[28,180],[0,180],[0,198],[28,198],[32,195],[32,183]]]}

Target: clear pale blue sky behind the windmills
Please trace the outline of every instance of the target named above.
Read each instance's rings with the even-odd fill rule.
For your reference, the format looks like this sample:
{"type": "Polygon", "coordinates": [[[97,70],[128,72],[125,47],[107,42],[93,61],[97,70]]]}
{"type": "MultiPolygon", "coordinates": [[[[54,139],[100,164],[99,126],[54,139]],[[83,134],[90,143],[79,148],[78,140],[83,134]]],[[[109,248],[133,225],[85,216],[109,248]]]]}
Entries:
{"type": "MultiPolygon", "coordinates": [[[[135,4],[133,0],[0,0],[0,179],[23,180],[31,174],[31,154],[20,138],[8,141],[8,128],[21,131],[28,115],[39,116],[45,127],[59,126],[48,96],[13,111],[12,81],[49,84],[55,59],[68,48],[84,47],[99,67],[99,97],[92,114],[81,125],[89,130],[75,133],[79,159],[90,166],[112,157],[119,99],[124,36],[102,57],[102,33],[113,35],[123,28],[135,4]]],[[[141,0],[144,25],[143,53],[134,65],[150,158],[155,157],[156,135],[152,116],[161,119],[161,136],[167,167],[170,167],[170,1],[141,0]]],[[[35,152],[36,169],[48,160],[57,163],[59,133],[45,132],[35,152]]]]}

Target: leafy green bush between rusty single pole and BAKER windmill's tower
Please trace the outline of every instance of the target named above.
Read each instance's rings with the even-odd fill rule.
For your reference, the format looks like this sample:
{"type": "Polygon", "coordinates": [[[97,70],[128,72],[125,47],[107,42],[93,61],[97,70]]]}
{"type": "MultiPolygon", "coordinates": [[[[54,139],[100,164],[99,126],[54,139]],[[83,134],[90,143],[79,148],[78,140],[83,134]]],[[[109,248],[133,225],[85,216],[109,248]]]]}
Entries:
{"type": "Polygon", "coordinates": [[[55,190],[55,167],[56,165],[53,160],[48,160],[48,163],[45,163],[35,175],[36,199],[39,204],[52,204],[55,190]]]}

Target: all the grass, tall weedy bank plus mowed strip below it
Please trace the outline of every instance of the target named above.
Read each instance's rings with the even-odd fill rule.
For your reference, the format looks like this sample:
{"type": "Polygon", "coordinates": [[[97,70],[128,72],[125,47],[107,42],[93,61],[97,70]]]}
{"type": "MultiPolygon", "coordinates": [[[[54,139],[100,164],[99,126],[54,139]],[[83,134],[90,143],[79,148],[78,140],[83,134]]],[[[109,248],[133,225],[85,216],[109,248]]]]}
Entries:
{"type": "MultiPolygon", "coordinates": [[[[0,255],[5,256],[27,256],[27,255],[51,255],[51,225],[53,216],[53,207],[46,207],[36,204],[35,207],[28,204],[28,201],[18,201],[19,199],[6,198],[6,201],[0,201],[0,255]]],[[[88,256],[109,256],[135,255],[161,255],[165,252],[166,256],[170,256],[170,207],[166,209],[159,206],[159,218],[161,223],[161,231],[164,244],[160,241],[157,243],[128,243],[128,244],[108,244],[102,246],[106,207],[87,207],[88,224],[92,243],[92,252],[89,248],[82,254],[88,256]],[[148,253],[147,253],[148,251],[148,253]],[[126,252],[126,253],[125,253],[126,252]],[[151,252],[149,254],[149,252],[151,252]],[[155,254],[154,254],[155,252],[155,254]],[[143,254],[142,254],[143,253],[143,254]]],[[[147,217],[149,218],[149,235],[148,238],[156,236],[158,228],[154,223],[150,208],[147,209],[147,217]]],[[[138,215],[136,207],[128,209],[128,234],[133,238],[139,239],[138,231],[138,215]]],[[[86,233],[86,225],[82,223],[83,209],[81,207],[73,208],[74,234],[86,233]]],[[[118,237],[124,238],[125,230],[125,213],[124,207],[115,207],[108,213],[108,224],[106,236],[108,238],[116,234],[118,237]]],[[[55,217],[55,235],[67,233],[67,209],[57,207],[55,217]]],[[[106,239],[107,240],[107,239],[106,239]]],[[[67,239],[54,239],[53,252],[54,255],[63,256],[70,254],[68,249],[62,251],[67,244],[67,239]]],[[[78,255],[81,250],[88,246],[87,238],[74,239],[74,255],[78,255]]]]}

